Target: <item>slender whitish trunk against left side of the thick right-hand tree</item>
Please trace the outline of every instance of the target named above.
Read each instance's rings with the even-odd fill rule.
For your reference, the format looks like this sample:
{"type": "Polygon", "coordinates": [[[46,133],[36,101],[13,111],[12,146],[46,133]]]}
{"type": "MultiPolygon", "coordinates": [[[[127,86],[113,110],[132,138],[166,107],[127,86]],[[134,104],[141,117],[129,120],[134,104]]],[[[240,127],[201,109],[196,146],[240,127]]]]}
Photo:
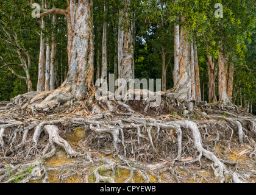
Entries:
{"type": "Polygon", "coordinates": [[[179,79],[179,52],[180,52],[180,27],[174,25],[174,69],[173,86],[175,87],[179,79]]]}

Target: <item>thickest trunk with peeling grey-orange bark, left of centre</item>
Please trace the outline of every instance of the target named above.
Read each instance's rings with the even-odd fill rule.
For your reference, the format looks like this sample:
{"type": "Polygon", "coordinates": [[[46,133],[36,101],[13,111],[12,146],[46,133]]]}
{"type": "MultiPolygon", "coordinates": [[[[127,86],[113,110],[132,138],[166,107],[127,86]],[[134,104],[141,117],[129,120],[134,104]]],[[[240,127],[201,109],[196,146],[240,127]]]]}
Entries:
{"type": "MultiPolygon", "coordinates": [[[[70,1],[72,43],[68,43],[71,59],[68,75],[62,87],[71,86],[73,98],[80,99],[93,82],[93,1],[70,1]]],[[[69,29],[70,30],[70,29],[69,29]]]]}

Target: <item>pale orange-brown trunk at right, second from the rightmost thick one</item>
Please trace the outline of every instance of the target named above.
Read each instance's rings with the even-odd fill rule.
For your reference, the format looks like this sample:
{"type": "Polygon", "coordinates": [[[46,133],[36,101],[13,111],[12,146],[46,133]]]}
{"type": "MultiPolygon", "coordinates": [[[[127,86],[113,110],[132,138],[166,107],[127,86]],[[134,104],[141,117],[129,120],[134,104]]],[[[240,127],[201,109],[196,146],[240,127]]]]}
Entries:
{"type": "Polygon", "coordinates": [[[227,98],[227,66],[225,67],[225,61],[222,49],[219,50],[219,103],[229,103],[227,98]]]}

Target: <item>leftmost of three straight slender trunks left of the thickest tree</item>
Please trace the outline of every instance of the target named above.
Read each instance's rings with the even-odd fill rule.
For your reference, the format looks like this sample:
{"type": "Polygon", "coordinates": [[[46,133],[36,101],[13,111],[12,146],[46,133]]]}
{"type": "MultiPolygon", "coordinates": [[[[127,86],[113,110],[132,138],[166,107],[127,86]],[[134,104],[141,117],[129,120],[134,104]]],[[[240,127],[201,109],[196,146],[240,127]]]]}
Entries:
{"type": "MultiPolygon", "coordinates": [[[[44,0],[42,0],[42,5],[44,6],[44,0]]],[[[37,91],[44,91],[45,83],[45,38],[44,38],[44,28],[45,22],[41,18],[41,35],[40,35],[40,54],[39,54],[39,63],[38,63],[38,81],[37,81],[37,91]]]]}

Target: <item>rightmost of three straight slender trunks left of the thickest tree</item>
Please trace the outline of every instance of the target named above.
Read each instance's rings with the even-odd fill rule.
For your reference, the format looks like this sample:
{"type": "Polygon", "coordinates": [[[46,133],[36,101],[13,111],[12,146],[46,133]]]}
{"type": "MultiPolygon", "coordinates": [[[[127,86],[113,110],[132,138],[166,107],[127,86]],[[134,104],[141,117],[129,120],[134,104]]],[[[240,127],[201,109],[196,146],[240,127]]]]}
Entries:
{"type": "MultiPolygon", "coordinates": [[[[55,7],[55,6],[54,6],[55,7]]],[[[57,49],[57,43],[55,43],[55,27],[57,24],[57,17],[54,14],[52,16],[52,49],[51,49],[51,65],[50,65],[50,90],[55,90],[55,69],[56,69],[56,62],[55,62],[55,56],[56,56],[56,49],[57,49]]]]}

